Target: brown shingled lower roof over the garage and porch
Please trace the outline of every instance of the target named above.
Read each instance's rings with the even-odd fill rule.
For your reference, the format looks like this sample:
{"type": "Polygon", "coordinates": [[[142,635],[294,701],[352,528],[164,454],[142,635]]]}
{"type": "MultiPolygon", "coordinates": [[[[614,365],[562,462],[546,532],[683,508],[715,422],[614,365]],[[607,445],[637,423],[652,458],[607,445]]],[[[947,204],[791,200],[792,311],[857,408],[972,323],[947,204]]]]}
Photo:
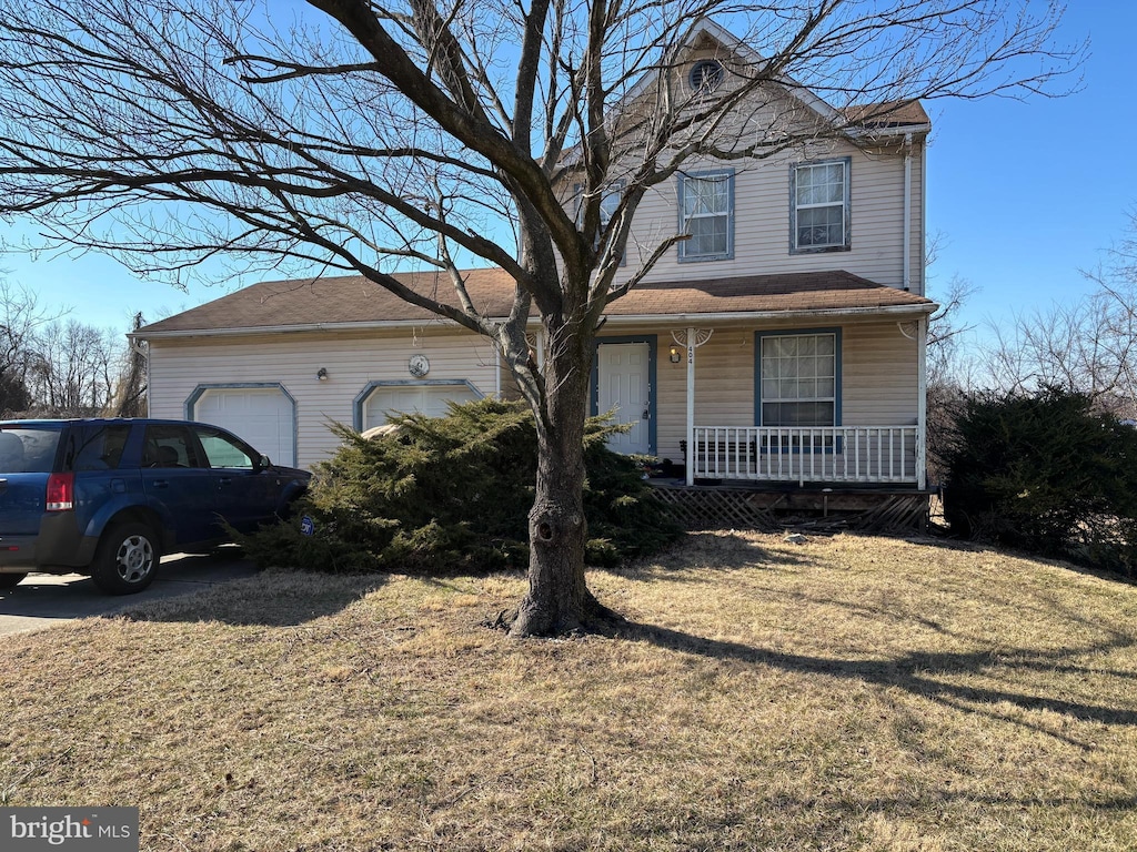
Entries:
{"type": "MultiPolygon", "coordinates": [[[[415,291],[449,304],[457,299],[449,279],[435,273],[395,276],[415,291]]],[[[501,269],[463,273],[474,304],[489,317],[504,318],[513,304],[514,282],[501,269]]],[[[640,284],[605,311],[611,320],[709,319],[730,315],[755,318],[797,314],[927,314],[935,302],[846,272],[752,275],[709,281],[640,284]]],[[[537,316],[536,308],[532,316],[537,316]]],[[[254,284],[168,319],[151,323],[132,336],[204,336],[302,331],[350,331],[397,325],[447,323],[363,276],[302,278],[254,284]]]]}

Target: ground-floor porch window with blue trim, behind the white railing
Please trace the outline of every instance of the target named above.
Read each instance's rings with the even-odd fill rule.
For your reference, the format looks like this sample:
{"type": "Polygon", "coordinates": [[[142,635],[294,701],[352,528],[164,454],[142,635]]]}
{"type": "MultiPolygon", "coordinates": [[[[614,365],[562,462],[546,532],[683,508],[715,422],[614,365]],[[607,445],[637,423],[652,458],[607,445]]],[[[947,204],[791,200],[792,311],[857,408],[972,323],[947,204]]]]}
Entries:
{"type": "Polygon", "coordinates": [[[808,427],[837,426],[840,400],[840,332],[758,334],[758,425],[763,450],[832,450],[832,435],[808,427]]]}

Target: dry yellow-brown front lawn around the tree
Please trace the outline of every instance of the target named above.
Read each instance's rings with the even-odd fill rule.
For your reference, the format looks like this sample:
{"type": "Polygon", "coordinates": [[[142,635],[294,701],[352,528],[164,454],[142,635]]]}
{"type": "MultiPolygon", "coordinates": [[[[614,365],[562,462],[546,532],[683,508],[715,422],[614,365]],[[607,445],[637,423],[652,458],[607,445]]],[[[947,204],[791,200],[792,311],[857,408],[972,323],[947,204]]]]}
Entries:
{"type": "Polygon", "coordinates": [[[621,636],[516,577],[275,574],[0,642],[0,804],[146,850],[1132,850],[1137,587],[935,542],[694,536],[621,636]]]}

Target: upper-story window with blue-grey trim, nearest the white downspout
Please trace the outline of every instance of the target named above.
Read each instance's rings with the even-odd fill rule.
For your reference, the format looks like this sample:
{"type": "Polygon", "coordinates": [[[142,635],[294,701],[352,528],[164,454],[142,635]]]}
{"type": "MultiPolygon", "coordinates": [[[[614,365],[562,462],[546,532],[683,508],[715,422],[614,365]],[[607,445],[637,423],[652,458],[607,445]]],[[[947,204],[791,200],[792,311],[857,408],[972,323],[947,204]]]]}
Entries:
{"type": "Polygon", "coordinates": [[[790,251],[847,251],[852,158],[790,167],[790,251]]]}

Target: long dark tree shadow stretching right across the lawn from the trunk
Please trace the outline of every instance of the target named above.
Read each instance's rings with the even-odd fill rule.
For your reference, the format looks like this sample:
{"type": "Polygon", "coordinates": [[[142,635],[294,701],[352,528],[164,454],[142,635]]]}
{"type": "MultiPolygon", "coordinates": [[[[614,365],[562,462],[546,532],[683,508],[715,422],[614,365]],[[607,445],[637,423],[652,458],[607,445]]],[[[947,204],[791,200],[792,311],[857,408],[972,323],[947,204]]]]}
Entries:
{"type": "MultiPolygon", "coordinates": [[[[882,687],[898,687],[905,692],[946,707],[966,712],[978,712],[1003,721],[1014,722],[1040,730],[1064,742],[1085,747],[1071,737],[1040,728],[1021,719],[1012,719],[997,712],[1002,702],[1022,710],[1048,710],[1054,713],[1095,721],[1103,725],[1137,726],[1137,710],[1111,707],[1106,703],[1071,701],[1048,695],[1029,695],[1010,688],[968,686],[953,683],[960,675],[978,675],[999,670],[1055,670],[1063,674],[1101,675],[1099,669],[1089,669],[1069,662],[1070,658],[1101,654],[1123,649],[1134,649],[1137,640],[1124,634],[1115,634],[1104,642],[1082,648],[1065,649],[1001,649],[997,661],[990,650],[971,652],[910,652],[889,660],[856,660],[794,654],[755,648],[739,642],[705,638],[682,630],[657,625],[626,623],[614,635],[639,642],[649,642],[659,648],[682,653],[698,654],[716,660],[735,660],[767,666],[781,671],[799,675],[823,675],[839,680],[860,680],[882,687]],[[943,679],[939,679],[943,678],[943,679]]],[[[1134,677],[1132,673],[1117,673],[1134,677]]]]}

